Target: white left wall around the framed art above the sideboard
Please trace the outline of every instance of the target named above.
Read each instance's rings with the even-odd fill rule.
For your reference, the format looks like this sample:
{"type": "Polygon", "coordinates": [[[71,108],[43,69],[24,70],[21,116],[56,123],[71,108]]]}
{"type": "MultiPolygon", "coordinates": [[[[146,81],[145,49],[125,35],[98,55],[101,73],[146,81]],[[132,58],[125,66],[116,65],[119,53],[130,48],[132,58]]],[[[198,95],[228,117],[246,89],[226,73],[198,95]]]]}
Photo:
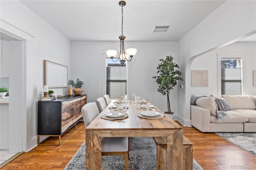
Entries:
{"type": "MultiPolygon", "coordinates": [[[[43,96],[43,60],[68,66],[70,75],[71,42],[20,1],[1,1],[1,20],[15,26],[23,33],[34,36],[32,41],[27,43],[31,51],[26,51],[27,57],[24,61],[26,118],[23,123],[26,127],[24,135],[26,144],[23,151],[28,151],[37,145],[37,105],[38,100],[43,96]]],[[[54,88],[53,90],[56,95],[67,94],[67,88],[54,88]]]]}

